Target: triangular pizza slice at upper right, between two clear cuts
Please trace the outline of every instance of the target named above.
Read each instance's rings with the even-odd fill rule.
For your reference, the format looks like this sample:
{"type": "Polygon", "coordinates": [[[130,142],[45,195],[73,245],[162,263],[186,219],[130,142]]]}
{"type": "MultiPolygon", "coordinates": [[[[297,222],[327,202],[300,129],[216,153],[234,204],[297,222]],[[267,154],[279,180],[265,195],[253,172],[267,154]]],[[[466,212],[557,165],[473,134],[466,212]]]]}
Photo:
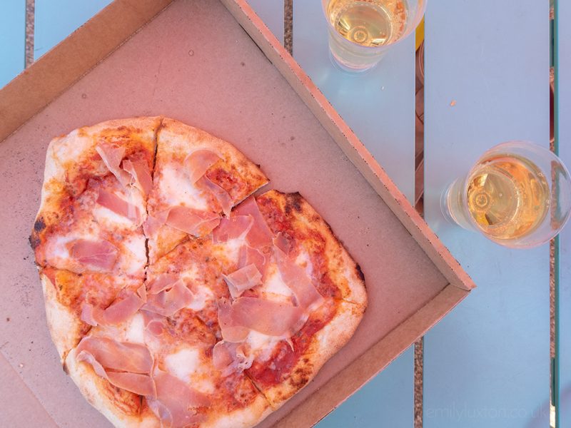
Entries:
{"type": "Polygon", "coordinates": [[[210,233],[233,205],[268,183],[230,143],[165,118],[158,131],[145,231],[151,263],[188,236],[210,233]]]}

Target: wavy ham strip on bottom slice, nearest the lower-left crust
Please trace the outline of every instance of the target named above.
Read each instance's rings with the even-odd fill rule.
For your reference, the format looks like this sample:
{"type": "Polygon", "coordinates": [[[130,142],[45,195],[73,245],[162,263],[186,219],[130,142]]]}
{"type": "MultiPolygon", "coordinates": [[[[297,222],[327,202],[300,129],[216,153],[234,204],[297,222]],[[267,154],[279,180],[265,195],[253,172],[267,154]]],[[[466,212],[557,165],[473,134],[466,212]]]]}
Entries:
{"type": "Polygon", "coordinates": [[[81,351],[89,352],[105,369],[121,372],[149,374],[153,369],[153,357],[146,346],[131,342],[117,342],[108,337],[84,337],[77,345],[81,351]]]}

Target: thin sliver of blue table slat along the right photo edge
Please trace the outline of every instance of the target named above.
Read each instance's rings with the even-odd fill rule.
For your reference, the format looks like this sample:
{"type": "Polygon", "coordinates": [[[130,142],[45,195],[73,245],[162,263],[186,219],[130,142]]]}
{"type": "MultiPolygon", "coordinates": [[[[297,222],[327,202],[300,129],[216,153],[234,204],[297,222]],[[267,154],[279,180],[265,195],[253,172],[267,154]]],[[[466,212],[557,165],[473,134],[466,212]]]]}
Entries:
{"type": "MultiPolygon", "coordinates": [[[[562,160],[571,168],[571,4],[557,2],[557,98],[558,146],[562,160]]],[[[557,379],[555,405],[557,427],[571,427],[571,225],[560,235],[557,301],[557,379]]]]}

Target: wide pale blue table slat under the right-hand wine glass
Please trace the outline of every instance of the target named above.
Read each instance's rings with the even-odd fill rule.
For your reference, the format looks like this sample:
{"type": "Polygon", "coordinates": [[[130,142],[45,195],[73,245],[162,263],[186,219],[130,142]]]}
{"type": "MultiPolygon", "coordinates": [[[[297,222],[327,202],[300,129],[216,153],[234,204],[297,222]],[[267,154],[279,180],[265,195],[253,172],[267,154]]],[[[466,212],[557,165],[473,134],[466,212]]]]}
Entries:
{"type": "Polygon", "coordinates": [[[425,218],[478,288],[425,336],[425,428],[548,427],[549,249],[446,223],[440,194],[496,143],[549,146],[547,1],[432,1],[425,19],[425,218]]]}

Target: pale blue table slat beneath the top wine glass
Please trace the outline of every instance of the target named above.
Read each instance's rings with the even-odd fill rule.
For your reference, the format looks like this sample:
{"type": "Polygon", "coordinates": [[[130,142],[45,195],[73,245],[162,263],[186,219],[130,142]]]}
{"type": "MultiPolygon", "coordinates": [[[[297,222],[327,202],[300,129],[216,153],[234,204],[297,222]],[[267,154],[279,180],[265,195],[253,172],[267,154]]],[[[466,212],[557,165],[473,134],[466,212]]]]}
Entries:
{"type": "MultiPolygon", "coordinates": [[[[320,1],[293,2],[293,56],[409,200],[415,183],[414,38],[378,68],[351,75],[334,68],[320,1]]],[[[413,347],[360,389],[319,427],[413,427],[413,347]]]]}

